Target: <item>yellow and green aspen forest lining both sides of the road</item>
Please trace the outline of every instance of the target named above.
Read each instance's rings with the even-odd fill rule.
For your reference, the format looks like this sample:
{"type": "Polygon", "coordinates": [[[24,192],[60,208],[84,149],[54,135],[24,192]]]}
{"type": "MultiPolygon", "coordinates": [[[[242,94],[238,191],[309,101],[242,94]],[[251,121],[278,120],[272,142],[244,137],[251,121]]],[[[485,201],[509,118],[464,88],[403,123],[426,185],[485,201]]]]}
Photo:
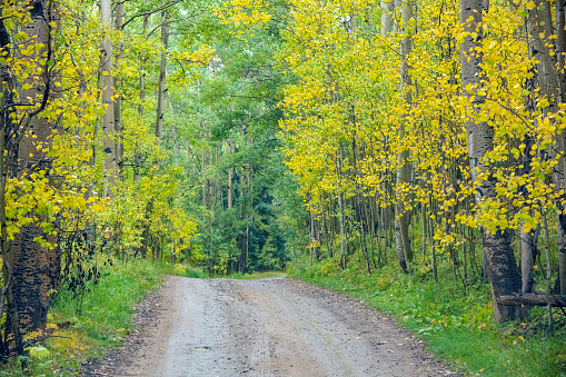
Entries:
{"type": "Polygon", "coordinates": [[[137,259],[395,268],[564,326],[566,1],[1,11],[2,357],[137,259]]]}

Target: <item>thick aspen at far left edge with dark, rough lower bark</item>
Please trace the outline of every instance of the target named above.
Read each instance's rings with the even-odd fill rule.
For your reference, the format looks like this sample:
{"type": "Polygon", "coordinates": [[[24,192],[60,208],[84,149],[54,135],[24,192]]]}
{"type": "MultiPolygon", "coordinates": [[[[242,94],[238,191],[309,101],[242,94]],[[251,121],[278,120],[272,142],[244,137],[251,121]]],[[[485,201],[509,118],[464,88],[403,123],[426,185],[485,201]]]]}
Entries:
{"type": "MultiPolygon", "coordinates": [[[[12,52],[14,59],[23,62],[30,73],[17,85],[14,72],[8,72],[2,67],[3,97],[11,103],[2,105],[2,149],[6,149],[1,159],[1,222],[2,222],[2,272],[4,289],[2,294],[2,309],[7,299],[7,337],[12,339],[16,351],[23,354],[22,336],[44,329],[47,312],[50,305],[51,289],[59,287],[60,248],[56,232],[46,234],[37,224],[21,226],[19,232],[9,240],[7,234],[7,215],[4,196],[7,178],[17,178],[26,182],[33,182],[36,176],[48,177],[49,185],[58,186],[52,177],[52,158],[47,149],[38,150],[37,143],[51,146],[54,136],[60,137],[58,125],[52,117],[39,117],[60,97],[60,78],[54,67],[53,37],[60,26],[58,3],[48,0],[34,0],[29,8],[29,20],[22,28],[26,34],[23,48],[34,51],[31,54],[17,56],[10,51],[2,41],[4,52],[12,52]],[[16,93],[16,88],[20,91],[16,93]],[[6,89],[11,90],[7,92],[6,89]],[[20,103],[13,100],[19,98],[20,103]],[[19,108],[23,105],[21,108],[19,108]],[[9,112],[7,109],[12,109],[9,112]],[[8,138],[7,138],[8,137],[8,138]],[[47,245],[40,242],[47,240],[47,245]],[[11,334],[12,337],[9,337],[11,334]]],[[[8,33],[2,22],[0,34],[8,33]]],[[[6,34],[4,34],[6,36],[6,34]]],[[[34,214],[43,221],[57,222],[56,218],[34,214]]],[[[0,310],[2,311],[2,310],[0,310]]],[[[0,312],[0,316],[2,314],[0,312]]],[[[9,340],[9,341],[12,341],[9,340]]],[[[4,345],[7,346],[7,345],[4,345]]],[[[10,345],[8,345],[10,347],[10,345]]],[[[8,349],[4,349],[7,351],[8,349]]]]}

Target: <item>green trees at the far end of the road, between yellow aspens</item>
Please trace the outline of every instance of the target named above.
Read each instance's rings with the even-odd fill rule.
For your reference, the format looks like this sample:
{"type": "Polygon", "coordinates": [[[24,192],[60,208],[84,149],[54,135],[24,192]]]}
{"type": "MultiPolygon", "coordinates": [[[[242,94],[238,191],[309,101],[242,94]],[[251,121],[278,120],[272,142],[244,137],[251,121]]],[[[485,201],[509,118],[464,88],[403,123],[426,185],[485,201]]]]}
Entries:
{"type": "Polygon", "coordinates": [[[260,32],[246,43],[219,22],[207,32],[216,60],[198,83],[171,93],[171,116],[185,119],[175,131],[190,150],[186,209],[198,214],[198,265],[219,275],[281,269],[289,257],[279,194],[295,192],[277,150],[281,78],[270,51],[279,40],[260,32]]]}

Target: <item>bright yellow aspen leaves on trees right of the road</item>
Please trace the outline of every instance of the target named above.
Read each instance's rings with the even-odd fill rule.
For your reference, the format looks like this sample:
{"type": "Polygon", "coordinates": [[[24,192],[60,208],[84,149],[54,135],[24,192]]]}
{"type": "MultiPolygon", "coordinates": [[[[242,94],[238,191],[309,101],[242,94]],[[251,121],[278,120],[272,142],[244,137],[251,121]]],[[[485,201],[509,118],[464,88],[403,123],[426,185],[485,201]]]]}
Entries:
{"type": "MultiPolygon", "coordinates": [[[[468,52],[459,51],[458,41],[480,30],[464,31],[457,3],[421,2],[418,19],[398,27],[407,27],[413,40],[406,61],[409,83],[403,86],[397,51],[408,33],[381,36],[384,10],[375,1],[291,0],[287,7],[289,22],[281,32],[277,67],[297,80],[285,88],[280,136],[286,163],[316,216],[322,216],[320,202],[329,196],[347,199],[361,190],[384,207],[401,200],[405,210],[418,204],[429,207],[433,200],[438,214],[430,217],[440,215],[448,224],[528,230],[538,224],[540,210],[557,201],[562,192],[549,177],[560,156],[547,151],[566,128],[566,117],[563,105],[559,112],[545,113],[549,99],[525,89],[535,62],[517,32],[522,9],[490,7],[479,51],[481,85],[463,88],[460,52],[468,52]],[[464,128],[475,96],[485,102],[476,105],[471,117],[490,125],[495,136],[493,150],[481,161],[488,168],[481,171],[469,169],[464,128]],[[539,110],[529,112],[528,96],[536,97],[539,110]],[[536,140],[530,150],[526,136],[536,140]],[[394,185],[397,155],[404,150],[409,151],[415,177],[394,185]],[[530,159],[527,171],[524,157],[530,159]],[[495,179],[497,197],[476,205],[477,188],[487,179],[495,179]]],[[[277,11],[275,2],[234,0],[218,12],[245,39],[249,27],[266,27],[277,11]]],[[[396,22],[399,12],[393,16],[396,22]]],[[[437,232],[435,238],[441,246],[461,242],[453,234],[437,232]]]]}

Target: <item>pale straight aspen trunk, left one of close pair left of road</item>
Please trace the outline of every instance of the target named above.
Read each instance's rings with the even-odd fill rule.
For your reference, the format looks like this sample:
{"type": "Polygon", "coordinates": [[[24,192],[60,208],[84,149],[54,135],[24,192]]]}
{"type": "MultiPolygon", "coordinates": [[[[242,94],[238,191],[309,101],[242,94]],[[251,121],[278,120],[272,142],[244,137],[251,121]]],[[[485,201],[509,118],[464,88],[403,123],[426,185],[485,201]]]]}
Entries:
{"type": "MultiPolygon", "coordinates": [[[[111,29],[110,0],[100,1],[100,23],[111,29]]],[[[105,153],[105,195],[112,198],[116,189],[116,146],[115,146],[115,107],[112,78],[112,41],[105,37],[100,54],[100,70],[102,77],[102,105],[106,111],[102,116],[102,148],[105,153]]]]}

